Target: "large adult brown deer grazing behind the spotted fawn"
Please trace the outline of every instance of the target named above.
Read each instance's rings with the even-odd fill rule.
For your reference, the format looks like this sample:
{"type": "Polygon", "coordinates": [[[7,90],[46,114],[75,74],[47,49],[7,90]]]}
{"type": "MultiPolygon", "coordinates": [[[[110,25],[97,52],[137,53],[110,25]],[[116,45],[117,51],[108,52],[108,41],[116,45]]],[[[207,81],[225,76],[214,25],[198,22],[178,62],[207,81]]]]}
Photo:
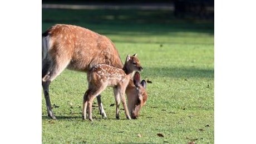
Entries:
{"type": "MultiPolygon", "coordinates": [[[[49,86],[64,69],[86,72],[97,64],[108,64],[123,68],[115,45],[104,35],[76,25],[55,24],[42,33],[42,88],[45,95],[47,114],[56,119],[52,112],[49,86]]],[[[146,101],[144,86],[136,87],[130,80],[127,89],[127,105],[130,112],[138,114],[135,103],[141,105],[146,101]],[[144,97],[140,104],[137,101],[144,97]]],[[[106,117],[100,95],[97,96],[100,114],[106,117]]],[[[136,119],[137,115],[131,116],[136,119]]]]}

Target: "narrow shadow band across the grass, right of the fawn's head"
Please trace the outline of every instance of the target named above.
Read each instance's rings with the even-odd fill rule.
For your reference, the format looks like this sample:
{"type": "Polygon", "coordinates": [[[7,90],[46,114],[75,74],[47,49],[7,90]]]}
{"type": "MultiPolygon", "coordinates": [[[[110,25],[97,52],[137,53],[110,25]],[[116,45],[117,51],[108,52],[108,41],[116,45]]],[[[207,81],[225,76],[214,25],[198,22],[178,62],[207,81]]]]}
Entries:
{"type": "Polygon", "coordinates": [[[214,69],[199,68],[145,68],[142,78],[145,76],[170,77],[170,78],[214,78],[214,69]]]}

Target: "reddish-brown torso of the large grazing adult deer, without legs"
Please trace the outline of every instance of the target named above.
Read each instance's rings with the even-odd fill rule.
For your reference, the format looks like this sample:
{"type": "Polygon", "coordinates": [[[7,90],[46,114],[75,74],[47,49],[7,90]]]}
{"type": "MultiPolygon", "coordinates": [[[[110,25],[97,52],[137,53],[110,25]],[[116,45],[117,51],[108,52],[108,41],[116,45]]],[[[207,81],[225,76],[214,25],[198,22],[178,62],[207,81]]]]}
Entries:
{"type": "Polygon", "coordinates": [[[49,54],[70,60],[68,69],[87,71],[96,64],[123,66],[115,45],[104,35],[66,24],[53,25],[46,33],[50,35],[49,54]]]}

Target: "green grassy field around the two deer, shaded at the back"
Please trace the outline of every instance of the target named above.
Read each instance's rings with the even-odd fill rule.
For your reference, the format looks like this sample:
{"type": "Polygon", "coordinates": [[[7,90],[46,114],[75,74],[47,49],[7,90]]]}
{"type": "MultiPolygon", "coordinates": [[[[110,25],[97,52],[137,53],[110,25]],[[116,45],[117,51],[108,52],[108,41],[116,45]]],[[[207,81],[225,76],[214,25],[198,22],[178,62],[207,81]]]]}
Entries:
{"type": "MultiPolygon", "coordinates": [[[[111,88],[102,94],[107,119],[93,104],[82,120],[86,74],[65,70],[50,85],[53,112],[42,92],[42,143],[214,143],[214,24],[182,20],[169,11],[42,9],[42,32],[75,24],[109,37],[122,61],[137,53],[148,100],[139,119],[115,120],[111,88]]],[[[121,105],[122,107],[122,105],[121,105]]]]}

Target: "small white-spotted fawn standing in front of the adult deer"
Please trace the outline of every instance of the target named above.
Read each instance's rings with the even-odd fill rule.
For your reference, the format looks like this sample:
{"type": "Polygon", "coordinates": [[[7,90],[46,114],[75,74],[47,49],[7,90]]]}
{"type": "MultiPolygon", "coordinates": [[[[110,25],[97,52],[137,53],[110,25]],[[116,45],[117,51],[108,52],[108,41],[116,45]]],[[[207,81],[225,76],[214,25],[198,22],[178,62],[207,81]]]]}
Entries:
{"type": "Polygon", "coordinates": [[[125,115],[127,119],[131,119],[129,110],[125,100],[125,90],[131,79],[134,71],[141,71],[142,67],[140,61],[137,58],[137,54],[132,56],[127,55],[124,68],[115,68],[114,66],[99,64],[93,66],[90,71],[87,72],[88,90],[83,97],[83,112],[82,117],[86,119],[86,109],[88,105],[88,119],[92,120],[92,101],[97,95],[106,89],[107,86],[111,86],[114,89],[115,101],[116,101],[116,119],[119,119],[119,105],[120,98],[122,105],[125,109],[125,115]]]}

